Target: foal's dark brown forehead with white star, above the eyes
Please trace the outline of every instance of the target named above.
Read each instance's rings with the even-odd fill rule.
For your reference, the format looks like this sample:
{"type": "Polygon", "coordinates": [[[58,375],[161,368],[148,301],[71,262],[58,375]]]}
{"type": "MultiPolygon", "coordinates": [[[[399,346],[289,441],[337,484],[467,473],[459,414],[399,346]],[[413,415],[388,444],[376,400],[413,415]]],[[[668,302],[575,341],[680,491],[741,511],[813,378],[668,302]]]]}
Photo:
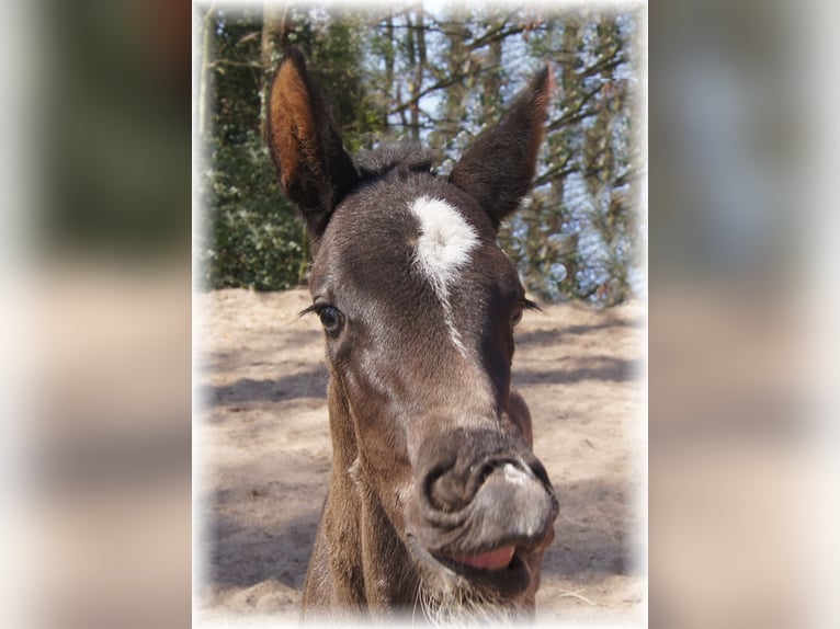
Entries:
{"type": "Polygon", "coordinates": [[[489,282],[502,264],[509,263],[477,203],[451,185],[419,179],[370,186],[345,199],[330,220],[315,275],[316,284],[378,290],[389,299],[422,283],[446,306],[467,274],[489,282]]]}

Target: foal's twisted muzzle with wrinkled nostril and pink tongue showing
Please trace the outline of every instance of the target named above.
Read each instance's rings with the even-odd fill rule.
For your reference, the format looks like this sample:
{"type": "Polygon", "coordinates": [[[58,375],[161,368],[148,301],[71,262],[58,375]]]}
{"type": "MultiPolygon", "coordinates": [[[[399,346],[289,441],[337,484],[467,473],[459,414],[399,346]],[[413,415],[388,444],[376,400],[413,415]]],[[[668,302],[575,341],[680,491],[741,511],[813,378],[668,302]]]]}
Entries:
{"type": "Polygon", "coordinates": [[[425,466],[408,533],[449,570],[513,595],[530,582],[527,556],[553,538],[558,503],[552,484],[521,441],[489,433],[450,437],[421,450],[425,466]],[[484,454],[476,458],[476,451],[484,454]]]}

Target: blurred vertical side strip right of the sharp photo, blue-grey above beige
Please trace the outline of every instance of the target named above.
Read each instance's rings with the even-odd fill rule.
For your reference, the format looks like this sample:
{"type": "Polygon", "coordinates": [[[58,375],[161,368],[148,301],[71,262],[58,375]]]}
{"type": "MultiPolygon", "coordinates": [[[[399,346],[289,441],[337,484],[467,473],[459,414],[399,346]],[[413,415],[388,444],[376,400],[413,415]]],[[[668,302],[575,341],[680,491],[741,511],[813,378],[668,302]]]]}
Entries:
{"type": "Polygon", "coordinates": [[[654,626],[839,620],[837,18],[649,13],[654,626]]]}

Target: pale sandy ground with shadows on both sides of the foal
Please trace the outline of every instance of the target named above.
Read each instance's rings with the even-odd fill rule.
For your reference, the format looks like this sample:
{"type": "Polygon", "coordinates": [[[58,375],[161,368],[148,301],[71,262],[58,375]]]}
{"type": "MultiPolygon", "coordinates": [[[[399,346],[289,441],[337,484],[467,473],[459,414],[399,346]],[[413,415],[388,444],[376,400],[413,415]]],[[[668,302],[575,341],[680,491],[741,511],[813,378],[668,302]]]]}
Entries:
{"type": "MultiPolygon", "coordinates": [[[[196,297],[194,433],[205,620],[296,619],[330,471],[323,341],[308,293],[196,297]]],[[[560,502],[537,619],[636,622],[644,310],[546,306],[517,329],[513,382],[560,502]]]]}

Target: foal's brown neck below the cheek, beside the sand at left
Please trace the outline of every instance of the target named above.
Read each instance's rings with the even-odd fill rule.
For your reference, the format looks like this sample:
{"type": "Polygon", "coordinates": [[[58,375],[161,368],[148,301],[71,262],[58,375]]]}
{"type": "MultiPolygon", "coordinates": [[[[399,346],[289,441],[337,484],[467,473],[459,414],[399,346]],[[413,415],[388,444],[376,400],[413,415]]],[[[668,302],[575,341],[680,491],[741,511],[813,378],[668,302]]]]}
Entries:
{"type": "Polygon", "coordinates": [[[323,526],[338,590],[372,611],[409,604],[416,580],[406,572],[407,550],[360,465],[350,410],[334,382],[329,398],[333,454],[323,526]]]}

